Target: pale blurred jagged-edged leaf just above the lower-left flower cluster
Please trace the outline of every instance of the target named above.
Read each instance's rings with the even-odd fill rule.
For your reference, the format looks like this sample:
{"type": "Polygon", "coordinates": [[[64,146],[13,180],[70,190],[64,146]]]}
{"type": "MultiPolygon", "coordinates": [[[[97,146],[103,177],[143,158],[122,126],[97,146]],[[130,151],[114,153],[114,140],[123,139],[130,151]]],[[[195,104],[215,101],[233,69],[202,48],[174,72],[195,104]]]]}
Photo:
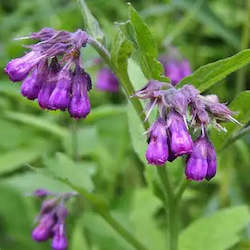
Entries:
{"type": "Polygon", "coordinates": [[[55,158],[45,160],[45,165],[51,177],[69,182],[78,188],[91,192],[94,189],[92,175],[95,173],[94,163],[74,163],[62,153],[57,153],[55,158]]]}

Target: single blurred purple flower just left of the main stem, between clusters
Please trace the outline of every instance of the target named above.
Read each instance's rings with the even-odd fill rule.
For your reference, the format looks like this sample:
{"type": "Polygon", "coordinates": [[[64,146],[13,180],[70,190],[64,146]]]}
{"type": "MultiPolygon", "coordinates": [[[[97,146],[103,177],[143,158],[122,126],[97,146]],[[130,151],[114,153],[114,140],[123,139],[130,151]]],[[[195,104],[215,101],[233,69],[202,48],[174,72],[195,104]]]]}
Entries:
{"type": "Polygon", "coordinates": [[[117,92],[119,90],[119,82],[110,69],[103,68],[97,73],[96,88],[102,91],[117,92]]]}

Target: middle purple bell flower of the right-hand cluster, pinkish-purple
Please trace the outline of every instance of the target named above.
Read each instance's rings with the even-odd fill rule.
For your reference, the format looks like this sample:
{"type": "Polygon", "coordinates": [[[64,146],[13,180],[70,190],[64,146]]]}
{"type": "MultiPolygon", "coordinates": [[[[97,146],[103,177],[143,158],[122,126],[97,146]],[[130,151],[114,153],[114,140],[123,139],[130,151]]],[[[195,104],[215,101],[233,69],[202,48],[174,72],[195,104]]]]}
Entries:
{"type": "Polygon", "coordinates": [[[174,156],[192,152],[193,141],[188,133],[183,117],[175,111],[168,114],[170,149],[174,156]]]}

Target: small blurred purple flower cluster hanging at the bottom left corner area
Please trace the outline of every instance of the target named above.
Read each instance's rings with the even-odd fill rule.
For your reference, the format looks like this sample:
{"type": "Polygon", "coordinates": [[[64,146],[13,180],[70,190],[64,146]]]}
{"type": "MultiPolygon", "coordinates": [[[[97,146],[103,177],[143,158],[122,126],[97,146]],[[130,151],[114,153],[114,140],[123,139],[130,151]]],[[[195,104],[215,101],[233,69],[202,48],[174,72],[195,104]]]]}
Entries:
{"type": "Polygon", "coordinates": [[[56,195],[47,190],[38,189],[34,195],[40,198],[54,195],[55,197],[43,201],[37,217],[38,225],[32,231],[32,238],[37,242],[52,238],[53,250],[66,250],[68,243],[65,231],[65,220],[68,214],[64,202],[73,194],[56,195]]]}

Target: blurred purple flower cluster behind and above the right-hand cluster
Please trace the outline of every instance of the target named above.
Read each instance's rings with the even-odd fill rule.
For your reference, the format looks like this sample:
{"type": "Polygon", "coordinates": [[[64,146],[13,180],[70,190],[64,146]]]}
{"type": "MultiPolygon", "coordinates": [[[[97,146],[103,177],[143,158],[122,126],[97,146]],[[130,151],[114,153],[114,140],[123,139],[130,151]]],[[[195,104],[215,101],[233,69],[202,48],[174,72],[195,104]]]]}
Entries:
{"type": "Polygon", "coordinates": [[[162,56],[160,61],[164,67],[165,75],[169,77],[174,86],[192,73],[189,61],[181,58],[175,48],[172,48],[170,55],[162,56]]]}

